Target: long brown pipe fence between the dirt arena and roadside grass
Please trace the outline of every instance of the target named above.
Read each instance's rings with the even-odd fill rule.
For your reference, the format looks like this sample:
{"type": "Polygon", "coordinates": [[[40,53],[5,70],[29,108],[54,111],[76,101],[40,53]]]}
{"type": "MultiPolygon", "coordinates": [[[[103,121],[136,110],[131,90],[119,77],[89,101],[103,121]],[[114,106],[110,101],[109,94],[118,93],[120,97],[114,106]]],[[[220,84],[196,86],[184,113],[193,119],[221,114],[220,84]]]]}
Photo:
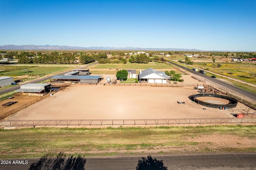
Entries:
{"type": "Polygon", "coordinates": [[[198,124],[255,124],[256,118],[207,119],[113,119],[113,120],[9,120],[0,127],[35,126],[140,126],[140,125],[198,125],[198,124]]]}

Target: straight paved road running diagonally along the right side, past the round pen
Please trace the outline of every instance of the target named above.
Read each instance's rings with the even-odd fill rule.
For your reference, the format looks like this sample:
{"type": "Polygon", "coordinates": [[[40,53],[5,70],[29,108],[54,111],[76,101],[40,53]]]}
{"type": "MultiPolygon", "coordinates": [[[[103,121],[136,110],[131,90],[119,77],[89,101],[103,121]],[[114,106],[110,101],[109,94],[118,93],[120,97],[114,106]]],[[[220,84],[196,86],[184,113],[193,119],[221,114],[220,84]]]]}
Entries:
{"type": "MultiPolygon", "coordinates": [[[[176,66],[178,66],[178,67],[180,67],[182,69],[185,69],[184,66],[178,65],[178,64],[176,64],[174,62],[170,62],[170,61],[167,61],[167,62],[170,63],[170,64],[173,64],[173,65],[176,65],[176,66]]],[[[239,87],[236,87],[234,85],[231,85],[231,84],[226,83],[224,81],[221,81],[219,79],[214,79],[212,77],[209,77],[207,75],[204,75],[204,74],[199,73],[198,71],[194,71],[192,69],[186,68],[186,71],[189,71],[189,72],[193,73],[194,75],[201,76],[201,77],[203,77],[203,79],[210,80],[210,81],[212,81],[212,82],[214,82],[214,83],[216,83],[216,84],[218,84],[220,86],[225,87],[226,89],[229,89],[230,91],[234,91],[235,93],[239,93],[240,95],[244,95],[244,96],[249,97],[250,99],[256,101],[256,94],[254,94],[254,93],[252,93],[250,91],[246,91],[244,89],[240,89],[239,87]]]]}

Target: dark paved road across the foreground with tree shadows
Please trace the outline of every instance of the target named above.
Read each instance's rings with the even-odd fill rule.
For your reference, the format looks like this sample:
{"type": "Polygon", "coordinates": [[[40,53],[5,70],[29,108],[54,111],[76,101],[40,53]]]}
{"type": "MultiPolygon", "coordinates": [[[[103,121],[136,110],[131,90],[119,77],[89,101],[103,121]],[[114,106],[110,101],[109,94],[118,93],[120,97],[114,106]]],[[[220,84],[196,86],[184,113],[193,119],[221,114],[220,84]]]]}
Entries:
{"type": "MultiPolygon", "coordinates": [[[[15,159],[20,160],[20,164],[14,164],[15,161],[10,160],[10,164],[0,164],[0,169],[64,169],[63,166],[66,165],[68,169],[73,168],[78,170],[83,168],[86,170],[136,170],[136,167],[140,167],[140,170],[256,170],[256,153],[73,157],[70,161],[67,161],[67,159],[62,160],[61,158],[63,157],[15,159]],[[46,164],[46,162],[48,163],[46,164]],[[156,165],[158,168],[156,168],[156,165]]],[[[3,159],[0,161],[4,163],[3,159]]]]}

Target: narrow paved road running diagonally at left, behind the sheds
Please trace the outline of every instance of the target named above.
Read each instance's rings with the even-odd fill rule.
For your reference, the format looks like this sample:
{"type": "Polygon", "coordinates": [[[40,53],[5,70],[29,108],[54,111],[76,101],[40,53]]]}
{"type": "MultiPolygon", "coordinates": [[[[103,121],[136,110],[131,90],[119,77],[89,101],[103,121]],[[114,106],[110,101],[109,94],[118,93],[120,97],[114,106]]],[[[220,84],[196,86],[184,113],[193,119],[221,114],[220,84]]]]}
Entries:
{"type": "MultiPolygon", "coordinates": [[[[85,67],[90,67],[92,65],[95,65],[95,63],[92,63],[92,64],[87,64],[87,65],[83,65],[82,67],[79,67],[79,68],[76,68],[76,69],[83,69],[85,67]]],[[[18,66],[17,66],[18,67],[18,66]]],[[[62,75],[62,74],[65,74],[65,73],[68,73],[70,72],[70,70],[68,71],[64,71],[62,73],[58,73],[56,75],[62,75]]],[[[14,90],[17,90],[17,89],[20,89],[20,85],[25,85],[25,84],[28,84],[28,83],[39,83],[41,81],[45,81],[47,79],[50,79],[51,77],[53,77],[53,75],[50,75],[50,76],[47,76],[47,77],[41,77],[41,78],[37,78],[37,79],[34,79],[34,80],[31,80],[31,81],[26,81],[24,83],[19,83],[19,85],[16,85],[14,87],[9,87],[8,89],[4,89],[4,90],[1,90],[0,91],[0,95],[1,94],[4,94],[4,93],[8,93],[10,91],[14,91],[14,90]]]]}

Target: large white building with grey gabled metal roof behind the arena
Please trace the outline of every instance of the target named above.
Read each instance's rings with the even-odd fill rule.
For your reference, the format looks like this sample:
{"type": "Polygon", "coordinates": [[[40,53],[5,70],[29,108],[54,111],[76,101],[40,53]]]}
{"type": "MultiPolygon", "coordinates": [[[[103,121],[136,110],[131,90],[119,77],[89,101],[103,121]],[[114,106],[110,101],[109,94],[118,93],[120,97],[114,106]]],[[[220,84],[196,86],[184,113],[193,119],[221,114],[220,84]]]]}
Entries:
{"type": "Polygon", "coordinates": [[[138,80],[146,81],[147,83],[170,83],[170,77],[168,75],[151,68],[140,71],[138,80]]]}

